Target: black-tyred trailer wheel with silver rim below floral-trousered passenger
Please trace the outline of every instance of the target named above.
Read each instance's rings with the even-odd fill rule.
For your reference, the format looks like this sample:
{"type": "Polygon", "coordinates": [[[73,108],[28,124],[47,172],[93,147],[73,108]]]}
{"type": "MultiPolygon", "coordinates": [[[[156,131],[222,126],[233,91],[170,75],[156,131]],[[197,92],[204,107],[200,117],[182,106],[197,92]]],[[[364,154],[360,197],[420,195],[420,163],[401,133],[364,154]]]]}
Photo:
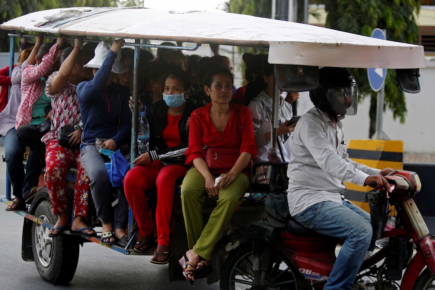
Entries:
{"type": "MultiPolygon", "coordinates": [[[[34,215],[56,223],[46,189],[38,195],[45,195],[37,204],[34,215]]],[[[72,280],[79,260],[79,243],[76,237],[60,235],[48,237],[48,227],[34,222],[32,225],[32,251],[39,275],[53,284],[67,284],[72,280]]]]}

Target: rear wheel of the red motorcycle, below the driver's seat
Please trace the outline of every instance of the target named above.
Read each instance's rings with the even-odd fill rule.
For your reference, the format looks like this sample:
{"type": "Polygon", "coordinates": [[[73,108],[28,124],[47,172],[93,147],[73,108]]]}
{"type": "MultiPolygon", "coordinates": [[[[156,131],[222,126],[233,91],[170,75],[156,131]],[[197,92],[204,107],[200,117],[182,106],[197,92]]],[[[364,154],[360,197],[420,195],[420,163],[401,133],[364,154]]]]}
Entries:
{"type": "Polygon", "coordinates": [[[271,267],[265,275],[264,285],[258,286],[258,283],[254,283],[252,245],[241,245],[228,256],[224,263],[221,272],[221,290],[297,290],[300,286],[295,274],[284,261],[285,259],[280,254],[272,253],[271,267]]]}

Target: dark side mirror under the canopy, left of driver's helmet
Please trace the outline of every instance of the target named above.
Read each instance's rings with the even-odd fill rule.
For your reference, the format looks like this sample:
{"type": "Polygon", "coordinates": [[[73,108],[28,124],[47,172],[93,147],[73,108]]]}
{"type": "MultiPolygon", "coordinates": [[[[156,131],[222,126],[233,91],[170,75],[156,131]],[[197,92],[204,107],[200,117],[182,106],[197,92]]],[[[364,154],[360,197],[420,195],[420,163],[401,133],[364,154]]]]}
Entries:
{"type": "Polygon", "coordinates": [[[312,66],[275,65],[275,79],[282,91],[310,91],[319,84],[319,69],[312,66]]]}

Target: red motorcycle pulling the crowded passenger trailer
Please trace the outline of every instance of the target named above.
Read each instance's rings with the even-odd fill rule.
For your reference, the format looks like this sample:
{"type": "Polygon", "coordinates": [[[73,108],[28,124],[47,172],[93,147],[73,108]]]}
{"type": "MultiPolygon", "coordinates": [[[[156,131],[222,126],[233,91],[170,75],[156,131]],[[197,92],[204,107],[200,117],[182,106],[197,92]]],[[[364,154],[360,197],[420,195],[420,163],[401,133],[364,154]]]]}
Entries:
{"type": "MultiPolygon", "coordinates": [[[[433,289],[435,241],[413,200],[421,189],[420,179],[416,172],[406,170],[385,178],[392,193],[371,190],[368,196],[372,241],[389,238],[389,242],[366,256],[354,288],[433,289]],[[384,231],[389,215],[395,215],[397,224],[384,231]]],[[[317,234],[292,218],[287,218],[285,227],[274,227],[262,219],[244,231],[250,239],[226,259],[221,289],[322,289],[334,266],[337,245],[343,242],[317,234]]]]}

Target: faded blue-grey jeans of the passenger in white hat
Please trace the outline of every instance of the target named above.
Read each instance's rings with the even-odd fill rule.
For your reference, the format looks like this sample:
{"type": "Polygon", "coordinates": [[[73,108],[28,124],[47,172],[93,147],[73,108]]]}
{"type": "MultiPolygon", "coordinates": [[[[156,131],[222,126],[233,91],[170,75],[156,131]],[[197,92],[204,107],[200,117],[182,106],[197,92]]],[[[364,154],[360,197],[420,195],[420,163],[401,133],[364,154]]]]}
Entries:
{"type": "MultiPolygon", "coordinates": [[[[108,180],[104,156],[98,153],[95,145],[89,145],[80,150],[80,163],[89,177],[92,199],[97,216],[104,224],[113,223],[112,186],[108,180]]],[[[126,229],[128,223],[128,202],[124,190],[119,190],[119,201],[116,215],[116,228],[126,229]]]]}

